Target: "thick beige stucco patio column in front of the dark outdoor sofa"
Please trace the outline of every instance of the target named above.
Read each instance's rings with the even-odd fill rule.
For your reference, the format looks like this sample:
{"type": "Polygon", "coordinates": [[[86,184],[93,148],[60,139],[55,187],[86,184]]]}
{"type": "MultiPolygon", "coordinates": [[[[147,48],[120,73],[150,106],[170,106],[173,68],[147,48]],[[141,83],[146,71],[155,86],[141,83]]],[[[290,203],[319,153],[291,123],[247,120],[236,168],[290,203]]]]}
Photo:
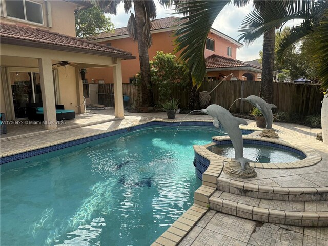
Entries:
{"type": "Polygon", "coordinates": [[[42,92],[42,104],[45,128],[48,130],[56,130],[56,107],[55,107],[55,91],[53,88],[52,66],[50,58],[38,59],[40,71],[40,84],[42,92]]]}

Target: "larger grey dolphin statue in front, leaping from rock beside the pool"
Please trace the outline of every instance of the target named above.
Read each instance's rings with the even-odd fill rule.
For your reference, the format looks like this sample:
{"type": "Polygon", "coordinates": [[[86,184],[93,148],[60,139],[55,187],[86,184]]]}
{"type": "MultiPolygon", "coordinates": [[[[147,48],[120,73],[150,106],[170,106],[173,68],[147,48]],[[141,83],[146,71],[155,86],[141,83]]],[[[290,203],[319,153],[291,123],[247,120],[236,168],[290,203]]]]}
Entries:
{"type": "Polygon", "coordinates": [[[213,125],[216,128],[219,128],[220,122],[224,130],[227,131],[235,149],[235,159],[240,163],[242,170],[245,170],[246,163],[255,162],[243,157],[243,140],[239,125],[247,125],[245,120],[232,116],[228,110],[216,104],[211,104],[206,109],[202,109],[201,112],[214,118],[213,125]]]}

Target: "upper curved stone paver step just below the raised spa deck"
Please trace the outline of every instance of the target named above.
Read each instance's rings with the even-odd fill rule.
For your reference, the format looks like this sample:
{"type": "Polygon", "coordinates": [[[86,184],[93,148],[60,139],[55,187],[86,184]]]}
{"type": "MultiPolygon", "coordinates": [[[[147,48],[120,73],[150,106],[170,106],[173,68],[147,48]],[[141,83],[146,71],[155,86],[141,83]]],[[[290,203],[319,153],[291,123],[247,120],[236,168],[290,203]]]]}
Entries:
{"type": "Polygon", "coordinates": [[[326,201],[328,187],[277,187],[217,178],[217,189],[232,194],[280,201],[326,201]]]}

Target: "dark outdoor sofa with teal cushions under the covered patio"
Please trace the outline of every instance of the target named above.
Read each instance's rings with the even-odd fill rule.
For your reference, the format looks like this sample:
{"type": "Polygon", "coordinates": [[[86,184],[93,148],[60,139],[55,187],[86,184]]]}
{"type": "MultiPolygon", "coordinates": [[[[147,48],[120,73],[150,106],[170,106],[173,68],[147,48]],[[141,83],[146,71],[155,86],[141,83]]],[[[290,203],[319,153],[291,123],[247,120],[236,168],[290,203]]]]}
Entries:
{"type": "MultiPolygon", "coordinates": [[[[26,105],[26,115],[29,120],[43,121],[44,109],[42,103],[31,103],[26,105]]],[[[56,104],[56,120],[75,119],[75,111],[65,109],[64,105],[56,104]]]]}

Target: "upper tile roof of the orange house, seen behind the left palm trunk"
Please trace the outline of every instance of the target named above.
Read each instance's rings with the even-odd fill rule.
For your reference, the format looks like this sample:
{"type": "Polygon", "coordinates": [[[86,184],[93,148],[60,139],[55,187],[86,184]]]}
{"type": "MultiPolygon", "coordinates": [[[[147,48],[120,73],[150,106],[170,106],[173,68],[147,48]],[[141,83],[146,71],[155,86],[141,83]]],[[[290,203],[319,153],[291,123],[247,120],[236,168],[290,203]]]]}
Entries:
{"type": "MultiPolygon", "coordinates": [[[[175,25],[179,25],[183,22],[186,22],[186,20],[179,20],[178,17],[166,17],[161,19],[154,19],[152,21],[152,31],[163,29],[163,28],[169,28],[173,27],[175,25]]],[[[114,32],[101,32],[98,35],[88,37],[88,40],[96,40],[96,39],[102,39],[102,38],[108,38],[108,37],[116,37],[116,36],[122,36],[122,35],[128,35],[128,28],[127,27],[121,27],[114,29],[114,32]]]]}

